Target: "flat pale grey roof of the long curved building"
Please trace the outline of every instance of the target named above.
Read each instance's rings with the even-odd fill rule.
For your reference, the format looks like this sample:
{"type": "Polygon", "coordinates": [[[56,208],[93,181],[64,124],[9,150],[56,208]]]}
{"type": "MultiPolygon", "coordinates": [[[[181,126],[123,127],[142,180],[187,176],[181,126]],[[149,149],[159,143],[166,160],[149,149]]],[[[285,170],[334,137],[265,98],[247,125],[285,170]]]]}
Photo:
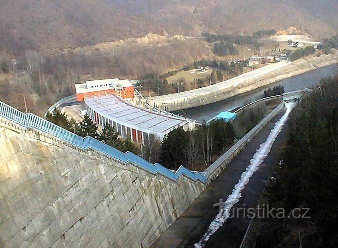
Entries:
{"type": "Polygon", "coordinates": [[[146,129],[148,133],[167,133],[172,129],[188,124],[190,121],[158,112],[145,110],[122,100],[116,95],[86,98],[85,103],[95,112],[116,119],[135,129],[146,129]]]}

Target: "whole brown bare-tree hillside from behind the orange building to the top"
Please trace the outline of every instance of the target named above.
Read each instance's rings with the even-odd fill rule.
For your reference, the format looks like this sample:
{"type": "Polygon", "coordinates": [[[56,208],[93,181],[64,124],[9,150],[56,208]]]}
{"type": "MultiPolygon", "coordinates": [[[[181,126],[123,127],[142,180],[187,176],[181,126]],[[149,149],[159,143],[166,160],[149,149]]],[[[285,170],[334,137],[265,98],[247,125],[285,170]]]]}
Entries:
{"type": "MultiPolygon", "coordinates": [[[[20,110],[25,99],[42,115],[88,79],[140,79],[232,58],[202,33],[254,37],[301,27],[328,38],[338,32],[337,12],[337,0],[0,0],[0,99],[20,110]]],[[[257,50],[234,48],[239,58],[257,50]]]]}

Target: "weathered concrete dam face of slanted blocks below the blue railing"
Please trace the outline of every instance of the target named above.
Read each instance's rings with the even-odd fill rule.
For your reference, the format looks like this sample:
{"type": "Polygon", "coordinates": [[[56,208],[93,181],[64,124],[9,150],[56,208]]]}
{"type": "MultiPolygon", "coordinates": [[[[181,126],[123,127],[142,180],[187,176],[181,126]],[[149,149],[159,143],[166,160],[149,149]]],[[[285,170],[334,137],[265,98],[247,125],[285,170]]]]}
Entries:
{"type": "Polygon", "coordinates": [[[148,247],[205,188],[17,123],[0,118],[0,247],[148,247]]]}

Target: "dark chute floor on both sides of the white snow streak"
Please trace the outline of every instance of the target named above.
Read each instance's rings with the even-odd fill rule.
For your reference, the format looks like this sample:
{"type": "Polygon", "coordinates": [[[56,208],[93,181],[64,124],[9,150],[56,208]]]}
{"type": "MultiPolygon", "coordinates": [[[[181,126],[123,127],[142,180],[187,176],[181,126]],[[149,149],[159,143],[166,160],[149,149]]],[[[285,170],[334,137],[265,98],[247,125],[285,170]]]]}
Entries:
{"type": "MultiPolygon", "coordinates": [[[[265,142],[270,130],[280,119],[285,110],[274,117],[269,124],[247,145],[247,147],[229,164],[229,166],[213,181],[206,190],[193,202],[193,204],[177,219],[174,224],[155,241],[152,248],[168,247],[193,247],[208,225],[218,213],[218,208],[213,204],[219,199],[226,200],[233,187],[250,164],[260,144],[265,142]]],[[[268,157],[264,160],[259,170],[254,173],[249,183],[242,191],[242,198],[234,208],[246,204],[255,207],[260,195],[269,179],[272,167],[279,157],[281,143],[285,134],[285,125],[272,145],[268,157]]],[[[206,243],[206,247],[238,248],[249,224],[247,219],[230,219],[206,243]]]]}

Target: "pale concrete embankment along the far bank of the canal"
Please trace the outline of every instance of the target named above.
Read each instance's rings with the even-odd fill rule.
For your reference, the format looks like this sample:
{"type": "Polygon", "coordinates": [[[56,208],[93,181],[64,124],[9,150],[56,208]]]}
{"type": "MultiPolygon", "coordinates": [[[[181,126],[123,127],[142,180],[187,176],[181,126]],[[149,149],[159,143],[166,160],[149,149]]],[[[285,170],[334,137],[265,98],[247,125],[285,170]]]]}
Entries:
{"type": "Polygon", "coordinates": [[[337,60],[338,52],[335,55],[310,56],[288,64],[278,62],[274,65],[267,65],[268,67],[264,66],[267,68],[263,67],[211,86],[154,97],[151,99],[151,104],[157,107],[160,106],[161,109],[168,111],[198,107],[224,100],[315,68],[336,63],[337,60]]]}

